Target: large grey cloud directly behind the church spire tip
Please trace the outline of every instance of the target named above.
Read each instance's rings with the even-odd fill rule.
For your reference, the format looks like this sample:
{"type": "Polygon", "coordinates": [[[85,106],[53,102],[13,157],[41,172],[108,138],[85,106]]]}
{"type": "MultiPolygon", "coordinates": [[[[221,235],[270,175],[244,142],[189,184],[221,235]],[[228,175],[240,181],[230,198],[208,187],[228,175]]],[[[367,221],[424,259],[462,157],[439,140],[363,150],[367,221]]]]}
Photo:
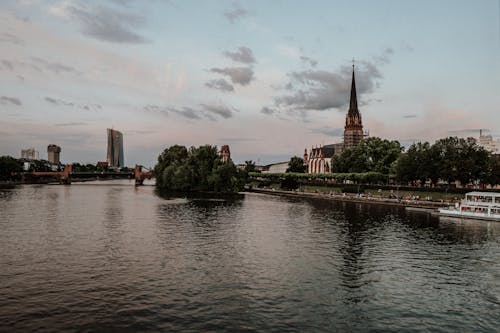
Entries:
{"type": "MultiPolygon", "coordinates": [[[[327,110],[341,108],[349,103],[352,69],[343,66],[338,72],[306,70],[291,72],[285,90],[290,93],[274,98],[276,107],[288,111],[327,110]]],[[[358,62],[356,90],[358,101],[370,93],[382,75],[377,66],[368,61],[358,62]]]]}

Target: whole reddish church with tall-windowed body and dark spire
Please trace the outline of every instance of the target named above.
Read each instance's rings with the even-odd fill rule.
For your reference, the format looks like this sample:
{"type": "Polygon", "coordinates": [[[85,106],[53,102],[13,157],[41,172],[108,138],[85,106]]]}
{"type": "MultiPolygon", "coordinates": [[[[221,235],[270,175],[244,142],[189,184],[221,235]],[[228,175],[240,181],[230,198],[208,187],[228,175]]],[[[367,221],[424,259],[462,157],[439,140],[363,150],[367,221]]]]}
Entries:
{"type": "Polygon", "coordinates": [[[345,117],[344,142],[312,148],[307,152],[304,150],[304,163],[307,165],[307,173],[331,172],[331,160],[334,155],[340,155],[345,149],[356,147],[363,140],[363,123],[358,110],[358,98],[356,96],[356,81],[354,78],[354,65],[352,65],[351,99],[349,111],[345,117]]]}

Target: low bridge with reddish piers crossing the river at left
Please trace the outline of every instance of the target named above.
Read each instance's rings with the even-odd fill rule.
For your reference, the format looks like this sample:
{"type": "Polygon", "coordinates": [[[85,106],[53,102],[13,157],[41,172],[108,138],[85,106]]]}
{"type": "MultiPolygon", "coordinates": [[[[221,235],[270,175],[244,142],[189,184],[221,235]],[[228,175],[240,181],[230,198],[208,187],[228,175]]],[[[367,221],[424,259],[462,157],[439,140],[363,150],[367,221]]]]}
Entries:
{"type": "Polygon", "coordinates": [[[143,185],[145,179],[154,178],[152,170],[147,169],[142,165],[135,165],[133,172],[73,172],[73,165],[67,164],[63,171],[35,171],[25,172],[21,174],[23,182],[32,183],[39,182],[40,180],[58,182],[60,184],[71,184],[71,179],[85,179],[85,178],[98,178],[98,179],[135,179],[135,185],[143,185]],[[143,171],[146,169],[147,171],[143,171]]]}

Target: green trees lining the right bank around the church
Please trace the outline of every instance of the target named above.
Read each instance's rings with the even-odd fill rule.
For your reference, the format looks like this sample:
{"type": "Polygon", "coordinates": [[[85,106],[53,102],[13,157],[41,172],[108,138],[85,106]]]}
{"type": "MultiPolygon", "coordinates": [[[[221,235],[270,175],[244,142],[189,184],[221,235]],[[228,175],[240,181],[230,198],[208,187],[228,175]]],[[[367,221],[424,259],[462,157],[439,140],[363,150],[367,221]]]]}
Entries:
{"type": "MultiPolygon", "coordinates": [[[[294,156],[287,172],[305,172],[303,165],[303,160],[294,156]]],[[[474,138],[448,137],[434,144],[418,142],[405,152],[398,141],[370,137],[335,155],[331,171],[330,175],[339,180],[390,178],[411,185],[428,181],[434,185],[439,181],[497,185],[500,184],[500,157],[489,154],[474,138]],[[363,176],[356,176],[358,174],[363,176]]]]}

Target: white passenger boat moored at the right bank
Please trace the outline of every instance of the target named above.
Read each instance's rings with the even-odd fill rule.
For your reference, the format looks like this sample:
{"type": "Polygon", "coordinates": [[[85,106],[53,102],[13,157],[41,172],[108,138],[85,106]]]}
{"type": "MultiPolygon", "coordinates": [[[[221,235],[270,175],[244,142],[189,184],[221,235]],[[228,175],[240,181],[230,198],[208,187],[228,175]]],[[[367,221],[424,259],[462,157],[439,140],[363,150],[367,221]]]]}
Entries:
{"type": "Polygon", "coordinates": [[[469,192],[453,207],[439,208],[437,215],[475,220],[500,221],[500,193],[469,192]]]}

